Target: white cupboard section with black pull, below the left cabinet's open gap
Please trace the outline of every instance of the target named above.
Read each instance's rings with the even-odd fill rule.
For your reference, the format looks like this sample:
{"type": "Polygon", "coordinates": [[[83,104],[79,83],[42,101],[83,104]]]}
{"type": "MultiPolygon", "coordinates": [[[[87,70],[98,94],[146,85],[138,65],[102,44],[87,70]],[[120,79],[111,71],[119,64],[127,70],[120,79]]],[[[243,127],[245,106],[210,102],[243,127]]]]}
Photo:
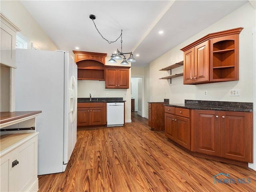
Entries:
{"type": "Polygon", "coordinates": [[[10,149],[0,158],[0,191],[38,191],[37,135],[38,132],[8,134],[5,138],[1,138],[4,141],[9,140],[9,142],[11,140],[19,141],[11,147],[13,150],[10,149]],[[26,138],[20,140],[19,138],[22,136],[26,136],[26,138]]]}

